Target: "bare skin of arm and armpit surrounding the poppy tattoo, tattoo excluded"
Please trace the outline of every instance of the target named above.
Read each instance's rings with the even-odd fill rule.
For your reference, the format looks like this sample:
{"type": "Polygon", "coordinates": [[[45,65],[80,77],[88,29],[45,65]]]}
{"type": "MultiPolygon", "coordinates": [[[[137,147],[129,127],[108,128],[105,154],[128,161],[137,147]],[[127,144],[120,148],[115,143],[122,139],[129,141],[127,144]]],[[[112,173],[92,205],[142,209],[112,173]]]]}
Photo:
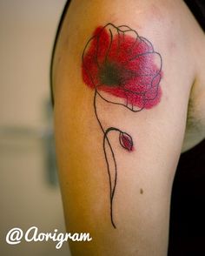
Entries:
{"type": "Polygon", "coordinates": [[[181,152],[205,138],[205,37],[182,1],[72,1],[53,66],[56,153],[69,232],[90,232],[70,243],[73,255],[166,255],[169,205],[181,152]],[[155,45],[163,60],[162,99],[134,115],[98,101],[104,125],[131,131],[125,154],[111,138],[119,166],[113,229],[102,131],[93,91],[83,83],[82,52],[99,25],[129,24],[155,45]],[[187,118],[188,116],[188,118],[187,118]]]}

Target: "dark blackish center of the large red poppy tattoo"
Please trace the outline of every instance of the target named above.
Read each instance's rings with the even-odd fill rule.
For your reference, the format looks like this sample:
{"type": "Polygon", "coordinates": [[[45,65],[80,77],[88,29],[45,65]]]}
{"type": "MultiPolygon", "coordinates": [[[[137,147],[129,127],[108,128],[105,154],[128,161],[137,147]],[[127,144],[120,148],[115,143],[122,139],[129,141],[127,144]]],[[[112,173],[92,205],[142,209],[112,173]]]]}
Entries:
{"type": "Polygon", "coordinates": [[[122,72],[116,64],[106,62],[102,65],[99,75],[101,84],[109,86],[119,86],[122,84],[122,72]]]}

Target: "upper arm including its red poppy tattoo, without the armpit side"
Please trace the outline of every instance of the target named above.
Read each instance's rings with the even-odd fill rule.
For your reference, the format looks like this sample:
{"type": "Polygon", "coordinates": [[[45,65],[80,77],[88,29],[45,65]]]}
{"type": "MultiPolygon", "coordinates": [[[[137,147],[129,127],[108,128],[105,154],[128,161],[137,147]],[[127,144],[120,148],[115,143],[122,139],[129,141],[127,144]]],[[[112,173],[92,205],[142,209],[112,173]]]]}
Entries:
{"type": "Polygon", "coordinates": [[[56,152],[69,232],[93,238],[72,244],[74,255],[166,254],[193,77],[183,74],[175,7],[162,2],[73,1],[65,18],[56,152]]]}

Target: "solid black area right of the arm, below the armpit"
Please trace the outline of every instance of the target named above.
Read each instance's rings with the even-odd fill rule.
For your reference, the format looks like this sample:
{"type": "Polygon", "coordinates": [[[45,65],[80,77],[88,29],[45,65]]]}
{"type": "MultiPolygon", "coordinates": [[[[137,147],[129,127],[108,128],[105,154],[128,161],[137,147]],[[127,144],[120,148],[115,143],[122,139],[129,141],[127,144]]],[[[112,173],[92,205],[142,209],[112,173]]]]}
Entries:
{"type": "Polygon", "coordinates": [[[205,139],[182,154],[173,184],[169,256],[205,255],[205,139]]]}

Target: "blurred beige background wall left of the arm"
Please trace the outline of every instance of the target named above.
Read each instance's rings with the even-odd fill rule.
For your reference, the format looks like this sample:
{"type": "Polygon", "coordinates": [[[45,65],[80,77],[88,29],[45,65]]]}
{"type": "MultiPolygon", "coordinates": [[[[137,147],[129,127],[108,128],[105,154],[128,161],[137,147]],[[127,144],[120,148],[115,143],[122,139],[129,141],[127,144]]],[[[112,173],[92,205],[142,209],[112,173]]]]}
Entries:
{"type": "Polygon", "coordinates": [[[43,139],[48,125],[50,54],[65,0],[0,1],[0,255],[69,255],[53,242],[9,246],[18,226],[65,232],[59,187],[46,178],[43,139]],[[8,129],[10,127],[10,129],[8,129]],[[23,131],[30,131],[28,134],[23,131]],[[32,131],[32,132],[31,132],[32,131]]]}

